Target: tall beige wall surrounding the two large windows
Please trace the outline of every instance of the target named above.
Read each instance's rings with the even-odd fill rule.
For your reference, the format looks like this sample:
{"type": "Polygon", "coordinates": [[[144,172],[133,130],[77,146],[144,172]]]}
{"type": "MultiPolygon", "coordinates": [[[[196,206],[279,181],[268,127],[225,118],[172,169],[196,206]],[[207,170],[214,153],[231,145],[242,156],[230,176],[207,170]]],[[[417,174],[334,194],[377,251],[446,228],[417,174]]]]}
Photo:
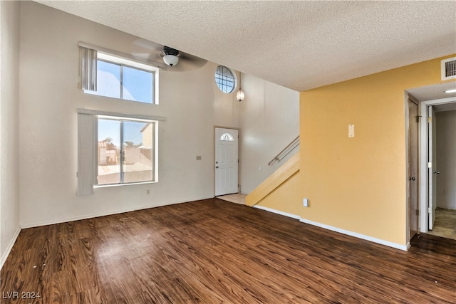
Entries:
{"type": "Polygon", "coordinates": [[[215,84],[217,64],[161,69],[159,105],[88,95],[77,87],[78,42],[130,53],[138,38],[31,1],[21,2],[20,20],[22,227],[214,196],[214,125],[239,127],[235,96],[215,84]],[[158,182],[76,196],[77,108],[166,117],[158,130],[158,182]]]}

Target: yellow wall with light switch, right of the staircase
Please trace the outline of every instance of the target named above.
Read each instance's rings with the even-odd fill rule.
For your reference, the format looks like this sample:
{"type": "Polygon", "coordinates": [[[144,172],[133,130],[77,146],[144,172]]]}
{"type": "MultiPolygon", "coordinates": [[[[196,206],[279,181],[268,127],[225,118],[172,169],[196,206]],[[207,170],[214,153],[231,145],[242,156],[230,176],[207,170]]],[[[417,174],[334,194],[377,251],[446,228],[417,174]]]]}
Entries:
{"type": "Polygon", "coordinates": [[[301,93],[301,218],[408,242],[404,90],[440,83],[441,60],[301,93]]]}

